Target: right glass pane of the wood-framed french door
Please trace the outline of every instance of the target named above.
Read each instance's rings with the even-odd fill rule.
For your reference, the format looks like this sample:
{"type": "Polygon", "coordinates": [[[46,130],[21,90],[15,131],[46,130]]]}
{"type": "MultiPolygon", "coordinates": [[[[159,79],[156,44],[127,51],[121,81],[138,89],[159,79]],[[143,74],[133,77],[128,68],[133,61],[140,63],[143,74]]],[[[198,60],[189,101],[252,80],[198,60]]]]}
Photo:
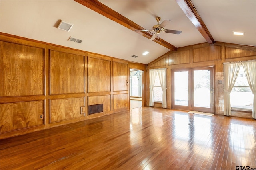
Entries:
{"type": "Polygon", "coordinates": [[[194,107],[211,107],[210,70],[194,70],[194,107]]]}

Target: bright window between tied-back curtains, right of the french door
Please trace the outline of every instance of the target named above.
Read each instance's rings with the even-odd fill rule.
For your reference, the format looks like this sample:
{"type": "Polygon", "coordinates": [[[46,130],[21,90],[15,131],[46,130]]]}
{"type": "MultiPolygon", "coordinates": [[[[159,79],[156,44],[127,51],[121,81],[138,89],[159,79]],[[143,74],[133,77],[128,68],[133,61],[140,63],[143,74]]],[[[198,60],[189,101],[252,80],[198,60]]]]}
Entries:
{"type": "Polygon", "coordinates": [[[252,111],[253,94],[243,66],[240,66],[238,77],[230,93],[230,104],[232,110],[252,111]]]}

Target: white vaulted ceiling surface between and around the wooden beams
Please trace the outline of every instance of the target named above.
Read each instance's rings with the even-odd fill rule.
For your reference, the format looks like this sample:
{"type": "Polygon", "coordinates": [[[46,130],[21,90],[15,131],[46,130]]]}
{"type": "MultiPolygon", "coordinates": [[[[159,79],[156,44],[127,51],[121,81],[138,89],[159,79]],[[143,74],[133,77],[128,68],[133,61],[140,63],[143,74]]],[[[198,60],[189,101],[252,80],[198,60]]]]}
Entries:
{"type": "MultiPolygon", "coordinates": [[[[160,38],[177,48],[207,42],[175,0],[99,1],[145,29],[152,29],[158,16],[160,23],[171,20],[165,29],[182,33],[161,33],[160,38]]],[[[214,41],[256,46],[256,0],[192,3],[214,41]]],[[[0,0],[0,32],[144,64],[170,51],[73,0],[0,0]],[[74,24],[70,32],[57,29],[60,20],[74,24]],[[70,36],[83,42],[67,41],[70,36]]]]}

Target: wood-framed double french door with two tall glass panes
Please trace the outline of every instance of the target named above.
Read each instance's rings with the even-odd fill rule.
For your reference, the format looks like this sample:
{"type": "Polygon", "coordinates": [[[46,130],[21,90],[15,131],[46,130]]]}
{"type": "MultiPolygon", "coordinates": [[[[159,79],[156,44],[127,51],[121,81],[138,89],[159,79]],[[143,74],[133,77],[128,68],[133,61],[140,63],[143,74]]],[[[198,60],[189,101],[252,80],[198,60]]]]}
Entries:
{"type": "Polygon", "coordinates": [[[172,108],[214,113],[214,68],[172,71],[172,108]]]}

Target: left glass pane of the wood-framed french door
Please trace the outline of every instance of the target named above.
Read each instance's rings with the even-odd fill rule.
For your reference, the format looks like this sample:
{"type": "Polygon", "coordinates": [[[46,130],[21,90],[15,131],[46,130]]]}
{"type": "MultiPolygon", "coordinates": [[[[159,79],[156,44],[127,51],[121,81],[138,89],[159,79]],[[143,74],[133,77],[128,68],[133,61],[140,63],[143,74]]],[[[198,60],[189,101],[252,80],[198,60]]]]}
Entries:
{"type": "Polygon", "coordinates": [[[174,105],[188,106],[188,71],[174,72],[174,105]]]}

